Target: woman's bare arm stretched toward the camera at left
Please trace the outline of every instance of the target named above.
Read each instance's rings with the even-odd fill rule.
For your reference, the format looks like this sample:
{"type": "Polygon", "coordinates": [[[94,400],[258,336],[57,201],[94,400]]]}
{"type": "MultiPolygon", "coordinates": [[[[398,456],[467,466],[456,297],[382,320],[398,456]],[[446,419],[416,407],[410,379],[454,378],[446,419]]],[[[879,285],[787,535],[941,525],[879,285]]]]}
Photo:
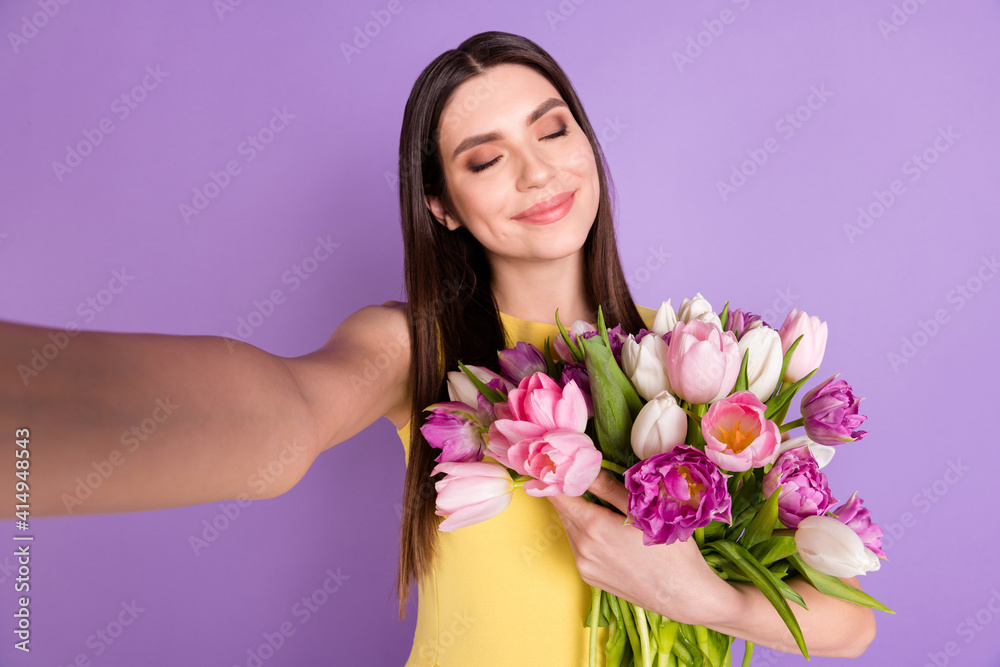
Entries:
{"type": "Polygon", "coordinates": [[[217,336],[68,337],[0,322],[0,491],[10,499],[0,518],[13,516],[12,472],[25,460],[15,458],[18,429],[32,517],[278,496],[319,452],[402,402],[406,345],[368,391],[351,385],[400,330],[402,311],[369,306],[316,352],[283,358],[217,336]],[[40,350],[47,363],[33,364],[40,350]]]}

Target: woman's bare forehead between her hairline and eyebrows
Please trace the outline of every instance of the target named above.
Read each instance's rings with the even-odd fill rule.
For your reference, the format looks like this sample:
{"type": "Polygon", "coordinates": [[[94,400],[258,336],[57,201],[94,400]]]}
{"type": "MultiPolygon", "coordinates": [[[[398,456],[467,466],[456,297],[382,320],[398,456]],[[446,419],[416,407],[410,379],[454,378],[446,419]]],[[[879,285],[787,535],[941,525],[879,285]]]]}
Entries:
{"type": "Polygon", "coordinates": [[[469,134],[523,126],[528,114],[558,91],[525,65],[497,65],[464,81],[441,112],[441,143],[454,146],[469,134]]]}

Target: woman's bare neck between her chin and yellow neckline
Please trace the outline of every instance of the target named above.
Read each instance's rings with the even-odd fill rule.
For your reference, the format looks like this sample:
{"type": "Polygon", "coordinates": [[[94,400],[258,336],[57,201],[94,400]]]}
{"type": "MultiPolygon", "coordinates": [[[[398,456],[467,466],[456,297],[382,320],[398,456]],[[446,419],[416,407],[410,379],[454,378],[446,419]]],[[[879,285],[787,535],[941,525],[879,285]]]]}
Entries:
{"type": "Polygon", "coordinates": [[[493,258],[493,294],[501,312],[530,322],[556,323],[568,329],[574,320],[597,321],[584,283],[583,250],[552,261],[493,258]]]}

